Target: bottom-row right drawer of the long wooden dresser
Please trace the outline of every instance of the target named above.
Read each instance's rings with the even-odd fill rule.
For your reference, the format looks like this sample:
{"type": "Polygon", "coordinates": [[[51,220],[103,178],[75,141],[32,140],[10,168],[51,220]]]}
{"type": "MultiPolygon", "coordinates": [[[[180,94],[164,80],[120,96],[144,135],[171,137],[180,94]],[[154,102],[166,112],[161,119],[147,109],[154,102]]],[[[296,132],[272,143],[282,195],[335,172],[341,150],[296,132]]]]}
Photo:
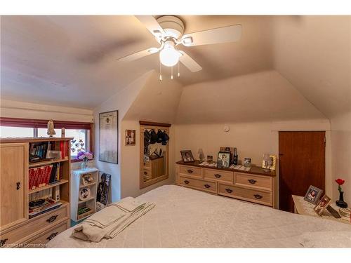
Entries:
{"type": "Polygon", "coordinates": [[[251,201],[253,203],[260,203],[269,206],[273,205],[272,191],[246,189],[226,184],[219,184],[218,194],[242,199],[245,201],[251,201]]]}

